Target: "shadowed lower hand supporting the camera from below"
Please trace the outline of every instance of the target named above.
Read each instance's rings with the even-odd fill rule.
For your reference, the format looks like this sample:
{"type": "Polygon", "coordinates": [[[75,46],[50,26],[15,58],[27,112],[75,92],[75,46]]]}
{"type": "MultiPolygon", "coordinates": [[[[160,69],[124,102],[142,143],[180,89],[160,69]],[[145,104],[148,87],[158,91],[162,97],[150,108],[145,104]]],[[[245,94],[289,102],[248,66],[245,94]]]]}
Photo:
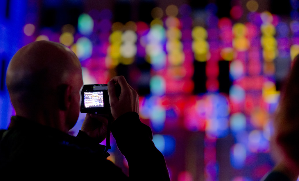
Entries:
{"type": "Polygon", "coordinates": [[[105,140],[107,135],[108,116],[86,113],[81,131],[94,138],[98,143],[105,140]]]}

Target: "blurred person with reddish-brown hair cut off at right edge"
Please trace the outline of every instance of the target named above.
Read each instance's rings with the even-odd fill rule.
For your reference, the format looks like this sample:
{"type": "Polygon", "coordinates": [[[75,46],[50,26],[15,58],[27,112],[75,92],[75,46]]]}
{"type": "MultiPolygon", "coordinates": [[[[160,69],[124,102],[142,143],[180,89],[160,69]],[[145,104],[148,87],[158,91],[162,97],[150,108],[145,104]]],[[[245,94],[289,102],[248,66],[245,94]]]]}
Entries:
{"type": "Polygon", "coordinates": [[[271,152],[274,169],[262,181],[296,181],[299,175],[299,55],[284,83],[273,121],[271,152]]]}

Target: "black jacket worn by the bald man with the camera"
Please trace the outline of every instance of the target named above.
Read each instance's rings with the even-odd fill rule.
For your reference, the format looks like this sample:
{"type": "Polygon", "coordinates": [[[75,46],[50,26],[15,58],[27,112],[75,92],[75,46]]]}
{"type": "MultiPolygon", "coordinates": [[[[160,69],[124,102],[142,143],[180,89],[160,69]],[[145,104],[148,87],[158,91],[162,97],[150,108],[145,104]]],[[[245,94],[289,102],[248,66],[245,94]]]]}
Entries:
{"type": "Polygon", "coordinates": [[[106,160],[109,154],[104,153],[105,147],[94,143],[84,132],[73,137],[18,116],[11,118],[11,125],[0,142],[1,175],[170,180],[164,157],[152,142],[151,129],[141,123],[135,112],[126,113],[111,124],[117,146],[128,161],[129,179],[106,160]]]}

